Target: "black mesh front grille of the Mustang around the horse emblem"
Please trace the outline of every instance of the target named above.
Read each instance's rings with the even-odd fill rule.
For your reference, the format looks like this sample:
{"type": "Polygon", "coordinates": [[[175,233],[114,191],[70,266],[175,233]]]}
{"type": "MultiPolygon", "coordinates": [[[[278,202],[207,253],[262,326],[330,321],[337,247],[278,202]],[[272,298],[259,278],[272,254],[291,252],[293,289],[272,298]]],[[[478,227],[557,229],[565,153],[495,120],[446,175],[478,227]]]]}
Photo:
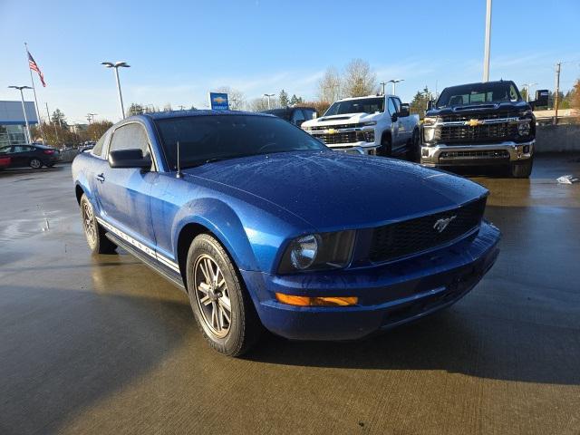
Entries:
{"type": "Polygon", "coordinates": [[[373,263],[411,256],[445,245],[478,227],[486,207],[480,198],[453,210],[414,218],[374,228],[369,258],[373,263]],[[455,218],[452,218],[455,217],[455,218]],[[452,218],[441,232],[435,229],[439,219],[452,218]]]}

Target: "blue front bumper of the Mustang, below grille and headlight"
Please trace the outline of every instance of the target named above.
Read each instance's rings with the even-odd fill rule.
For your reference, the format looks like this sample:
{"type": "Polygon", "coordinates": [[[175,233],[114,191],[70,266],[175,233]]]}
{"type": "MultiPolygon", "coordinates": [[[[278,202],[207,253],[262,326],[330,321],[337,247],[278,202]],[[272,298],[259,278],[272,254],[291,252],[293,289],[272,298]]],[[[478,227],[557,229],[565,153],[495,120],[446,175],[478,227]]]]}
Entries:
{"type": "Polygon", "coordinates": [[[242,271],[266,329],[290,339],[353,340],[411,322],[454,304],[498,257],[497,227],[483,222],[478,235],[423,256],[389,265],[300,275],[242,271]],[[275,293],[357,296],[345,307],[281,304],[275,293]]]}

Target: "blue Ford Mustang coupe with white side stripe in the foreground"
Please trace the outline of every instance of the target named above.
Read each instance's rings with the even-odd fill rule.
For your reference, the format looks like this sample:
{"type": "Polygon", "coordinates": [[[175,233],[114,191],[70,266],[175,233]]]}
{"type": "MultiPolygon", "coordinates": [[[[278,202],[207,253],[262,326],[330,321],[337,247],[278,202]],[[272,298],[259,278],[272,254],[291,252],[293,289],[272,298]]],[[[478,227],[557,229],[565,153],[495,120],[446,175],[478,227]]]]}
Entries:
{"type": "Polygon", "coordinates": [[[179,285],[229,355],[265,329],[349,340],[418,319],[498,256],[478,184],[329,150],[270,115],[131,117],[74,160],[73,179],[92,252],[123,247],[179,285]]]}

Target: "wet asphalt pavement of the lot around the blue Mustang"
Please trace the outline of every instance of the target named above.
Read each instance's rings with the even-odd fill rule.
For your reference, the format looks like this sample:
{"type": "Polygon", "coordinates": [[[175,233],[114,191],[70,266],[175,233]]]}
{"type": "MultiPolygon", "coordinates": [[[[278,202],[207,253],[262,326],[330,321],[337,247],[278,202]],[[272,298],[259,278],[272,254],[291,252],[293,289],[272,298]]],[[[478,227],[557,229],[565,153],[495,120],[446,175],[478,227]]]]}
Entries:
{"type": "Polygon", "coordinates": [[[458,304],[355,343],[209,349],[186,295],[89,254],[70,166],[0,172],[0,434],[580,433],[580,156],[475,177],[504,238],[458,304]]]}

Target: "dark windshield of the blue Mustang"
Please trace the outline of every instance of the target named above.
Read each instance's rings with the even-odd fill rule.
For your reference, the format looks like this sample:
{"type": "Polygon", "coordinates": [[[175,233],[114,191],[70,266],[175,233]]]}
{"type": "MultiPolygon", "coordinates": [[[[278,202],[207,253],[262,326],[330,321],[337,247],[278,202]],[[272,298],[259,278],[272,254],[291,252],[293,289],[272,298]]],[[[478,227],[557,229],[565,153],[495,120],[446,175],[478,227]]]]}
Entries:
{"type": "Polygon", "coordinates": [[[269,116],[208,115],[155,121],[169,167],[198,166],[208,160],[296,150],[328,150],[294,125],[269,116]]]}

